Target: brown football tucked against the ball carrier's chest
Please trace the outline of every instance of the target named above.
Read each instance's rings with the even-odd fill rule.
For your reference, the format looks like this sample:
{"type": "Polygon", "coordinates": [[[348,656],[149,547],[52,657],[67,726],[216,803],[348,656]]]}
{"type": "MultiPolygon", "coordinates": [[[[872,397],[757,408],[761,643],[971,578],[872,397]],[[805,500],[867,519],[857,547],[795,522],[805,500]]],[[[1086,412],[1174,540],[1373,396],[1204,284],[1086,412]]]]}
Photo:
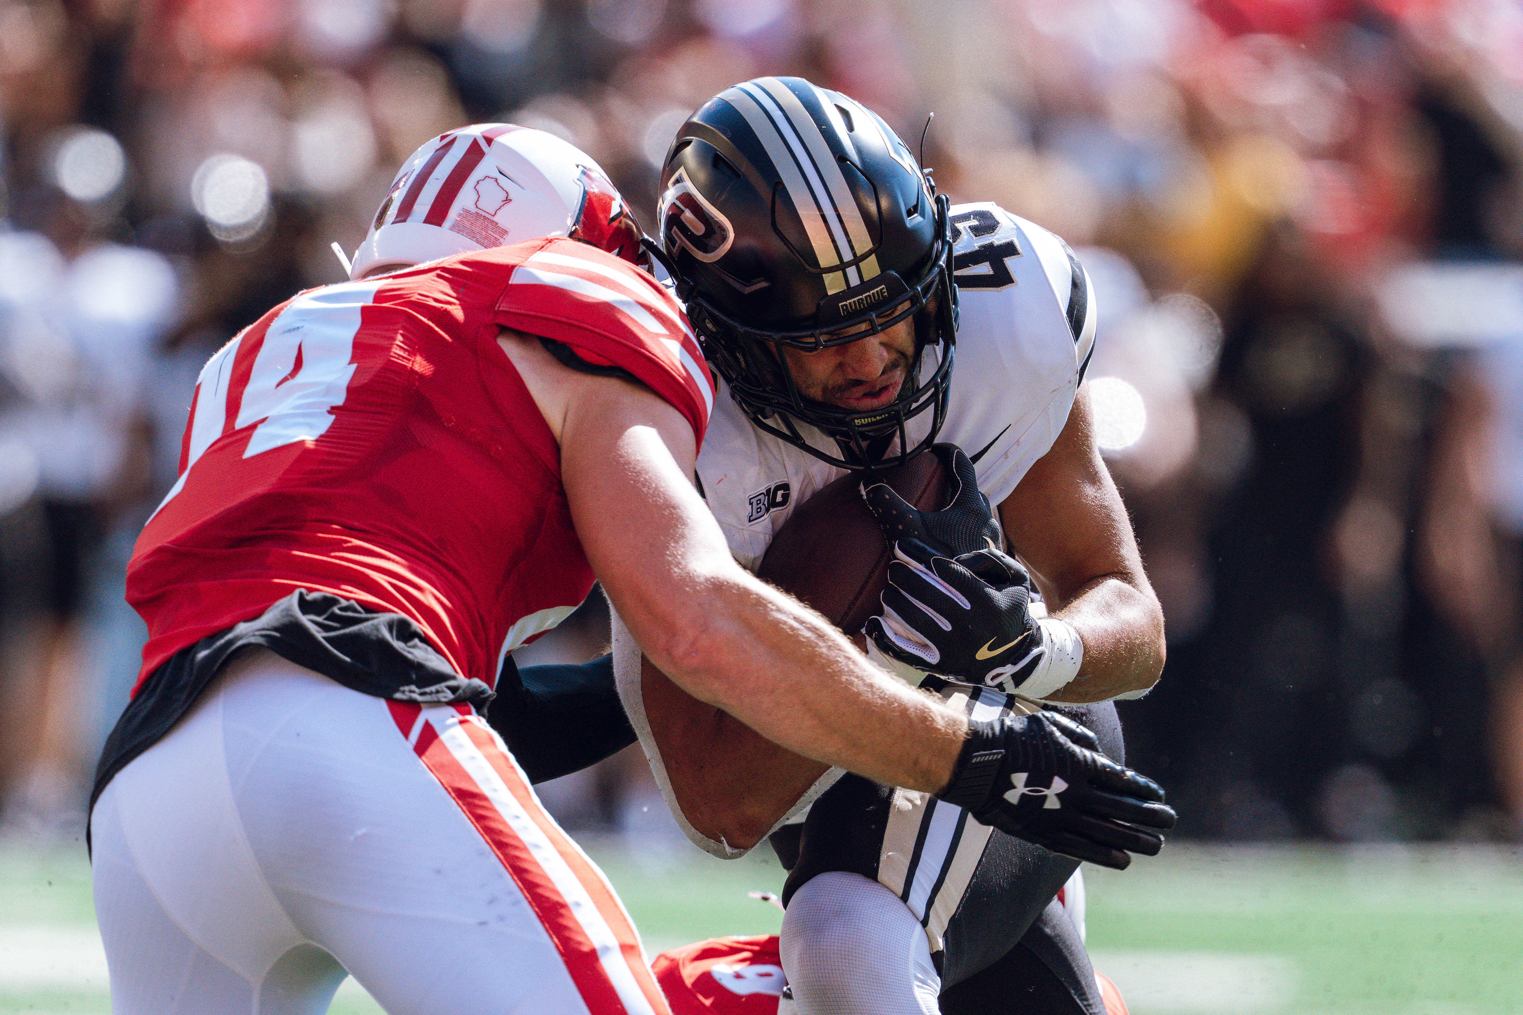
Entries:
{"type": "MultiPolygon", "coordinates": [[[[862,501],[867,473],[853,472],[793,510],[757,568],[757,575],[824,613],[857,644],[867,618],[880,610],[891,549],[862,501]]],[[[944,508],[952,475],[934,453],[877,470],[888,485],[923,511],[944,508]]]]}

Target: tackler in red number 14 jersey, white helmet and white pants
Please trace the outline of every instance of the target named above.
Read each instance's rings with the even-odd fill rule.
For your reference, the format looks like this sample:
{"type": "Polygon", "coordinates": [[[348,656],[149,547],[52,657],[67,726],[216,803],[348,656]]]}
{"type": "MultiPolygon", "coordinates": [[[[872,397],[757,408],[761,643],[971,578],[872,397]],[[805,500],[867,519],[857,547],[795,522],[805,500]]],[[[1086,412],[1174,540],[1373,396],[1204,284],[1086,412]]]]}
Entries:
{"type": "Polygon", "coordinates": [[[346,972],[398,1013],[666,1012],[477,712],[594,575],[682,688],[792,750],[1157,851],[1157,787],[909,691],[734,563],[688,479],[710,376],[605,184],[545,134],[451,131],[352,282],[203,370],[128,568],[149,641],[91,803],[116,1012],[323,1010],[346,972]],[[1016,768],[1072,807],[1002,796],[1016,768]]]}

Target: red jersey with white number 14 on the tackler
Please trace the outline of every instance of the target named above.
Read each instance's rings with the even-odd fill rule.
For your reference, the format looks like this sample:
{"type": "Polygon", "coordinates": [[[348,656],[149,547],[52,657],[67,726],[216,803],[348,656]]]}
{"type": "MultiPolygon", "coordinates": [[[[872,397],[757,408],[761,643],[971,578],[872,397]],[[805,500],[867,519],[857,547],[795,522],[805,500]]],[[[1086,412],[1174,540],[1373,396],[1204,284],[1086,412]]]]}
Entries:
{"type": "Polygon", "coordinates": [[[627,370],[702,441],[713,382],[681,309],[586,243],[302,292],[201,371],[180,479],[126,571],[149,633],[137,686],[297,589],[411,619],[487,686],[503,654],[570,615],[592,572],[498,327],[627,370]]]}

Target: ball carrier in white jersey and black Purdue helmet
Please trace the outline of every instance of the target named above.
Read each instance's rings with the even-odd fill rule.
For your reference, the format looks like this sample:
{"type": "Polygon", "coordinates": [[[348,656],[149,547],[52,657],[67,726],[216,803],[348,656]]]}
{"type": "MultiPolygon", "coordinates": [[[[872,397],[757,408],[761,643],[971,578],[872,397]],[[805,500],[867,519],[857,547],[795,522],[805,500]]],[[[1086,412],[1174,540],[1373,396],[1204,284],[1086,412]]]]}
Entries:
{"type": "MultiPolygon", "coordinates": [[[[1164,621],[1092,437],[1095,315],[1068,245],[995,204],[950,205],[876,114],[797,78],[699,108],[663,187],[666,263],[723,379],[696,476],[737,560],[755,568],[792,508],[850,469],[966,449],[934,453],[985,499],[920,514],[867,490],[880,522],[917,536],[896,543],[868,638],[973,718],[1066,703],[1119,761],[1109,702],[1157,679],[1164,621]]],[[[687,737],[673,740],[644,708],[659,674],[617,618],[614,662],[688,835],[739,855],[772,832],[798,1012],[923,1015],[938,995],[996,1010],[1017,989],[1022,1010],[1101,1010],[1052,898],[1072,857],[1124,854],[995,832],[944,796],[768,753],[739,723],[666,726],[687,737]]],[[[1014,793],[1049,810],[1063,788],[1014,793]]]]}

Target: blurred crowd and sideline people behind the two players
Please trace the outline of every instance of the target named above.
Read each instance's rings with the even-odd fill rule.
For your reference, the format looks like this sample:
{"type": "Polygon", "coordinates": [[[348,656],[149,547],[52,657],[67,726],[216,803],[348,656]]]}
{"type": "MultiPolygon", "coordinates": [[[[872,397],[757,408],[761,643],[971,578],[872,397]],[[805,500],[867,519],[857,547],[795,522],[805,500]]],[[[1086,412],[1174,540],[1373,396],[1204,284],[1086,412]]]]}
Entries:
{"type": "MultiPolygon", "coordinates": [[[[1180,834],[1517,840],[1518,0],[0,0],[5,831],[82,826],[196,371],[344,275],[399,163],[538,126],[649,228],[676,128],[762,73],[868,103],[1089,268],[1168,621],[1129,761],[1180,834]]],[[[635,755],[545,796],[672,834],[635,755]]]]}

